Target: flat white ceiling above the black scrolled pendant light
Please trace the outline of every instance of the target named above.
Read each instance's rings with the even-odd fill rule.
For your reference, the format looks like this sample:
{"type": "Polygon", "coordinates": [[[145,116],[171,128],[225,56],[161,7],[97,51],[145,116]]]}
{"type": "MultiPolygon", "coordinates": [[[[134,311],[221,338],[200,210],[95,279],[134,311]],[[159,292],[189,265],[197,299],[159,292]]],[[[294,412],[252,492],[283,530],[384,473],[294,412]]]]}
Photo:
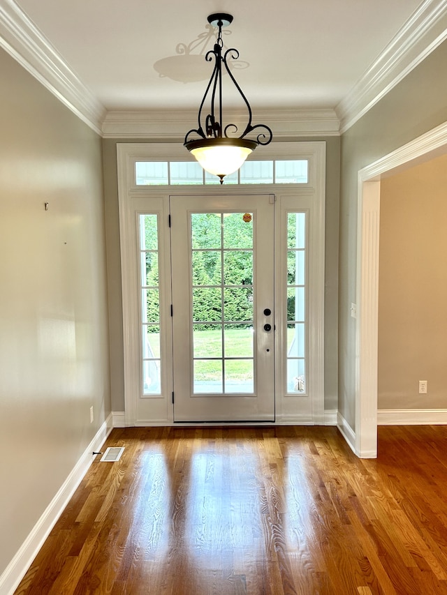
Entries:
{"type": "Polygon", "coordinates": [[[427,0],[17,3],[106,110],[183,110],[198,107],[211,70],[203,48],[177,46],[206,36],[210,13],[234,16],[224,42],[240,52],[234,72],[254,109],[335,108],[427,0]]]}

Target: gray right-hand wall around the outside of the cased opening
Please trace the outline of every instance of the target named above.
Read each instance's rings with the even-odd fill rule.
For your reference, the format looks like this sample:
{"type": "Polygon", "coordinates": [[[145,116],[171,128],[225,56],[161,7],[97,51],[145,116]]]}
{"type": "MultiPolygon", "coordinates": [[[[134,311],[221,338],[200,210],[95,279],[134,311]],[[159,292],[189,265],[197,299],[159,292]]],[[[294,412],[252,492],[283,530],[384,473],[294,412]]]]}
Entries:
{"type": "Polygon", "coordinates": [[[355,428],[358,170],[447,121],[447,43],[342,135],[339,241],[339,412],[355,428]]]}

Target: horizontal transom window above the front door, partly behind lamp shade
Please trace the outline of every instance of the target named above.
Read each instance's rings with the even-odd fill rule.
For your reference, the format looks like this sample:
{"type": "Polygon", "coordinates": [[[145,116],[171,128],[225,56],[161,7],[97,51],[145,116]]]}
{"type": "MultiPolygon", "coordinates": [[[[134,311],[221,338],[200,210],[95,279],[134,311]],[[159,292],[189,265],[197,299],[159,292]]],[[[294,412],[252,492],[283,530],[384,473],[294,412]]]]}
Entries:
{"type": "MultiPolygon", "coordinates": [[[[246,161],[225,176],[226,184],[307,184],[307,159],[246,161]]],[[[205,172],[196,161],[135,161],[136,186],[191,186],[219,184],[219,178],[205,172]]]]}

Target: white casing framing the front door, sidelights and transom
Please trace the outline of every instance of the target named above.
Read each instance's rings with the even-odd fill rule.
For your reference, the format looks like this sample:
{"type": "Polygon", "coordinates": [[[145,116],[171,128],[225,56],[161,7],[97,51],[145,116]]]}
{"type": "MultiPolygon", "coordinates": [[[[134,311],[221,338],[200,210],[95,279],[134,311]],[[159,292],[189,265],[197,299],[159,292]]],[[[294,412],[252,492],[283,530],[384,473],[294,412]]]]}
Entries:
{"type": "MultiPolygon", "coordinates": [[[[276,375],[276,423],[313,425],[333,423],[330,414],[324,412],[324,236],[325,236],[325,142],[284,142],[272,143],[263,148],[264,158],[307,158],[309,160],[309,180],[303,185],[253,185],[228,186],[228,194],[274,194],[277,211],[285,209],[307,209],[309,213],[309,271],[312,280],[309,285],[309,342],[308,349],[308,386],[312,398],[305,402],[301,397],[284,396],[280,375],[276,375]]],[[[135,262],[137,250],[136,223],[138,213],[159,213],[160,220],[168,221],[168,200],[173,192],[182,195],[219,195],[219,186],[200,187],[147,187],[135,186],[136,160],[163,160],[166,158],[184,160],[183,147],[175,144],[124,143],[117,144],[118,199],[120,255],[122,271],[122,323],[123,323],[123,361],[124,361],[124,412],[119,412],[119,403],[114,405],[115,414],[124,419],[120,425],[172,425],[172,377],[167,373],[164,379],[163,395],[156,398],[141,399],[140,393],[140,334],[138,323],[138,296],[135,287],[138,283],[138,263],[135,262]],[[144,405],[141,407],[141,405],[144,405]]],[[[284,218],[277,217],[275,223],[275,257],[279,255],[279,237],[284,234],[284,218]]],[[[161,264],[169,269],[168,234],[161,236],[161,264]]],[[[165,294],[170,298],[170,287],[166,275],[161,275],[165,283],[165,294]]],[[[275,294],[284,292],[275,282],[275,294]]],[[[284,297],[284,296],[283,296],[284,297]]],[[[163,324],[170,324],[170,299],[163,303],[163,324]]],[[[277,329],[275,349],[281,341],[281,329],[277,329]]],[[[119,346],[117,346],[119,349],[119,346]]],[[[166,340],[162,346],[163,354],[170,359],[172,342],[166,340]]],[[[166,366],[165,366],[166,373],[166,366]]],[[[120,371],[116,370],[117,378],[120,371]]],[[[172,376],[172,375],[171,375],[172,376]]],[[[222,422],[223,424],[223,422],[222,422]]]]}

